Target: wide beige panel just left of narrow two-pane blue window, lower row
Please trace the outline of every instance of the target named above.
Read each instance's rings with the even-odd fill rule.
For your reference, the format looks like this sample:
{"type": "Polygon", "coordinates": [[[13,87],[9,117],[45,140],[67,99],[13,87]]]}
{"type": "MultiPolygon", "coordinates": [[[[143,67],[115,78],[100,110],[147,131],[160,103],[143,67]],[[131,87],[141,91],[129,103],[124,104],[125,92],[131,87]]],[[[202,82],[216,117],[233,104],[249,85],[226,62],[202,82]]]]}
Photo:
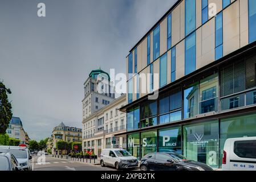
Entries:
{"type": "Polygon", "coordinates": [[[202,26],[202,57],[201,67],[215,60],[215,18],[212,18],[202,26]]]}

